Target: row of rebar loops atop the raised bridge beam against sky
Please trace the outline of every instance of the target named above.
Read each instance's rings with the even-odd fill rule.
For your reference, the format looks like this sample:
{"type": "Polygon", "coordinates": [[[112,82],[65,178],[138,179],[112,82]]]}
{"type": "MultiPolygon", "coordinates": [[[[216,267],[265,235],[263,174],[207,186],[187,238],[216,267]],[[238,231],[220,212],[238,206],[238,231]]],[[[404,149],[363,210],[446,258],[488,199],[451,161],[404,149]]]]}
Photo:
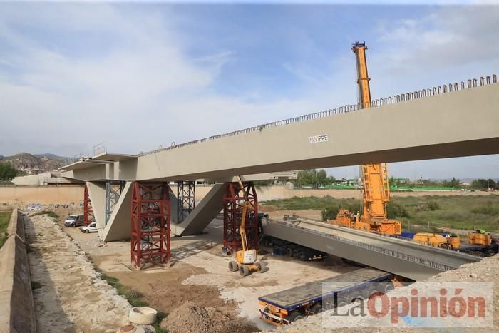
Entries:
{"type": "Polygon", "coordinates": [[[339,115],[341,113],[348,113],[348,112],[352,112],[352,111],[358,111],[358,110],[360,110],[362,108],[366,108],[366,107],[369,107],[369,106],[376,107],[376,106],[384,106],[384,105],[391,104],[391,103],[400,103],[400,102],[404,102],[404,101],[411,101],[413,99],[425,98],[425,97],[428,97],[428,96],[440,95],[442,93],[450,93],[450,92],[453,92],[453,91],[459,91],[459,90],[463,90],[463,89],[474,88],[474,87],[477,87],[477,86],[485,86],[485,85],[488,85],[488,84],[491,84],[491,83],[497,83],[497,82],[498,82],[498,78],[497,78],[497,76],[495,74],[493,74],[492,76],[482,76],[480,78],[469,79],[466,82],[461,81],[460,83],[458,83],[458,82],[448,83],[448,84],[444,84],[443,86],[431,87],[431,88],[421,89],[421,90],[418,90],[418,91],[411,91],[411,92],[408,92],[408,93],[401,93],[401,94],[389,96],[389,97],[386,97],[386,98],[375,99],[375,100],[370,101],[369,103],[366,103],[366,105],[361,105],[361,103],[347,104],[345,106],[339,106],[337,108],[332,108],[332,109],[329,109],[329,110],[326,110],[326,111],[309,113],[309,114],[304,115],[304,116],[298,116],[298,117],[294,117],[294,118],[282,119],[280,121],[273,121],[272,123],[264,123],[262,125],[257,125],[257,126],[253,126],[253,127],[250,127],[250,128],[245,128],[245,129],[242,129],[242,130],[235,130],[235,131],[230,132],[230,133],[225,133],[225,134],[220,134],[220,135],[213,135],[213,136],[210,136],[209,138],[202,138],[200,140],[194,140],[194,141],[190,141],[190,142],[186,142],[186,143],[180,143],[178,145],[175,144],[175,143],[172,143],[170,145],[170,147],[163,148],[162,146],[160,146],[160,148],[157,149],[157,150],[151,150],[151,151],[148,151],[148,152],[145,152],[145,153],[140,153],[140,154],[138,154],[138,156],[150,155],[150,154],[153,154],[153,153],[158,153],[158,152],[163,151],[163,150],[170,150],[170,149],[174,149],[174,148],[180,148],[180,147],[184,147],[185,145],[194,145],[196,143],[202,143],[202,142],[206,142],[206,141],[217,140],[217,139],[220,139],[220,138],[227,138],[227,137],[234,136],[234,135],[241,135],[241,134],[246,134],[246,133],[252,133],[252,132],[256,132],[257,130],[258,131],[264,130],[266,128],[274,128],[274,127],[278,127],[278,126],[289,125],[289,124],[292,124],[292,123],[302,123],[304,121],[312,121],[312,120],[317,119],[317,118],[324,118],[324,117],[329,117],[329,116],[336,116],[336,115],[339,115]]]}

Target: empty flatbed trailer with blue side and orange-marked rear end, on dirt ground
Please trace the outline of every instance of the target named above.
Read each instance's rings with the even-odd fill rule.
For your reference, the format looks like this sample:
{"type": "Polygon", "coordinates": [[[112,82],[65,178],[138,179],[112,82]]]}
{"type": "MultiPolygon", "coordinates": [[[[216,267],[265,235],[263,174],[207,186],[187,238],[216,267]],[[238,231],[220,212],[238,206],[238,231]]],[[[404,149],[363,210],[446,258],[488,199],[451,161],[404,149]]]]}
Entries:
{"type": "Polygon", "coordinates": [[[285,325],[322,312],[322,309],[341,307],[356,297],[368,298],[373,292],[388,292],[396,280],[391,273],[374,268],[361,268],[324,280],[308,282],[281,292],[258,297],[260,319],[276,325],[285,325]],[[323,290],[324,282],[328,290],[323,290]],[[376,284],[372,282],[386,282],[376,284]],[[381,289],[381,290],[380,290],[381,289]]]}

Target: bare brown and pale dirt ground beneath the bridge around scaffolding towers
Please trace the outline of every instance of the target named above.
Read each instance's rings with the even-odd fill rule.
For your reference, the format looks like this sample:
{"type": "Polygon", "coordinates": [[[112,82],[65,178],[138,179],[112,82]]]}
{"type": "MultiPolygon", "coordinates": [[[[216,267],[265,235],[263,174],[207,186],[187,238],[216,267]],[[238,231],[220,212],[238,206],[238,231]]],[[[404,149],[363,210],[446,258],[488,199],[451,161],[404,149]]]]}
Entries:
{"type": "Polygon", "coordinates": [[[259,319],[259,296],[355,269],[336,257],[300,262],[269,253],[259,257],[266,272],[241,277],[227,268],[232,259],[222,255],[222,221],[214,220],[202,235],[172,238],[171,267],[135,272],[130,266],[130,242],[108,242],[103,246],[97,233],[83,234],[78,228],[65,230],[100,270],[142,292],[145,301],[158,311],[168,314],[190,301],[247,319],[243,331],[248,327],[274,329],[259,319]],[[284,271],[286,275],[282,275],[284,271]]]}

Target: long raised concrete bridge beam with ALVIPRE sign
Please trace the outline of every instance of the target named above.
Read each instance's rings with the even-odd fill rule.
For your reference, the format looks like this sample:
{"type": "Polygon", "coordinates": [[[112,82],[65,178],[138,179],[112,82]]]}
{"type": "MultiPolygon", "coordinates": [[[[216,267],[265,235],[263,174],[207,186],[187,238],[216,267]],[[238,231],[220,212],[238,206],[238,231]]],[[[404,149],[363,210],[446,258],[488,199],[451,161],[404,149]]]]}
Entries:
{"type": "Polygon", "coordinates": [[[113,162],[107,169],[76,164],[64,176],[80,180],[105,179],[106,175],[115,180],[222,179],[280,170],[497,154],[498,105],[499,83],[493,83],[157,150],[113,162]]]}

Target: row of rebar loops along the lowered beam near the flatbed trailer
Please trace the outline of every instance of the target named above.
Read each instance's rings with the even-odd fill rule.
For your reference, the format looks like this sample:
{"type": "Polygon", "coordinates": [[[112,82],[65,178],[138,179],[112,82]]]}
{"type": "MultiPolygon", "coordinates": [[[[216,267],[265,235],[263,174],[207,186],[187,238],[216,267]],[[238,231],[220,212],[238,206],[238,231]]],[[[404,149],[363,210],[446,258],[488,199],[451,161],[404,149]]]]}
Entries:
{"type": "Polygon", "coordinates": [[[414,263],[419,264],[419,265],[423,265],[423,266],[426,266],[426,267],[431,267],[431,268],[434,268],[436,270],[441,270],[442,272],[446,271],[446,270],[453,270],[453,269],[456,268],[456,267],[452,267],[452,266],[448,266],[448,265],[442,264],[441,262],[433,262],[433,261],[425,259],[425,258],[415,257],[413,255],[407,255],[405,253],[401,253],[401,252],[398,252],[398,251],[395,251],[395,250],[389,250],[389,249],[386,249],[384,247],[379,247],[379,246],[376,246],[376,245],[366,244],[366,243],[363,243],[363,242],[358,242],[356,240],[349,240],[349,239],[341,237],[341,236],[331,235],[331,234],[327,234],[325,232],[320,232],[320,231],[317,231],[317,230],[311,230],[311,229],[308,229],[308,228],[305,228],[305,227],[299,227],[297,225],[293,225],[293,223],[282,222],[282,221],[275,221],[275,220],[272,220],[272,222],[277,222],[277,223],[279,223],[281,225],[287,225],[288,227],[294,227],[294,228],[297,228],[297,229],[300,229],[300,230],[304,230],[305,232],[311,232],[313,234],[320,235],[322,237],[329,237],[331,239],[336,240],[337,242],[343,242],[343,243],[346,243],[346,244],[349,244],[349,245],[354,245],[354,246],[360,247],[360,248],[362,248],[364,250],[379,252],[379,253],[382,253],[384,255],[389,255],[390,257],[396,257],[396,258],[401,259],[401,260],[406,260],[406,261],[409,261],[409,262],[414,262],[414,263]]]}

